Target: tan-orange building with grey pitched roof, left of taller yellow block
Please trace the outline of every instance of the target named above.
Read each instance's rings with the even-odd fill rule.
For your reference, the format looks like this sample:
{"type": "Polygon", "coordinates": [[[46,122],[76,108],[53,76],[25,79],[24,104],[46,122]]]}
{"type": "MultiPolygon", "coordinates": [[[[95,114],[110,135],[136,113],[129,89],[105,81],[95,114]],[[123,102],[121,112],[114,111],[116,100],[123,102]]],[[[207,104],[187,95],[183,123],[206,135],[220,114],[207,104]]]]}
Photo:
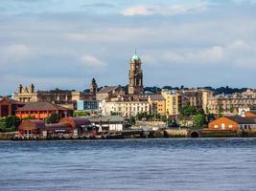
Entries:
{"type": "Polygon", "coordinates": [[[150,95],[148,102],[151,108],[151,114],[166,115],[166,101],[162,95],[150,95]]]}

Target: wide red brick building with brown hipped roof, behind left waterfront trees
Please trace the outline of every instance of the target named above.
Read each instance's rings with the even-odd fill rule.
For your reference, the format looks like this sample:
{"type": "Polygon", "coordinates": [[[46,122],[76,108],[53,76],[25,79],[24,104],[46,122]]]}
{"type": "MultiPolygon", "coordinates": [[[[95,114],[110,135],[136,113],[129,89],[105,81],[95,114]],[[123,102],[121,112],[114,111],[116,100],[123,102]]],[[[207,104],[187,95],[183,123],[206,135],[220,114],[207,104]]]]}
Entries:
{"type": "Polygon", "coordinates": [[[62,117],[72,117],[73,110],[61,107],[59,105],[42,101],[42,102],[31,102],[26,103],[22,108],[16,110],[15,114],[17,117],[35,117],[35,119],[45,119],[50,117],[53,113],[58,114],[58,119],[62,117]]]}

